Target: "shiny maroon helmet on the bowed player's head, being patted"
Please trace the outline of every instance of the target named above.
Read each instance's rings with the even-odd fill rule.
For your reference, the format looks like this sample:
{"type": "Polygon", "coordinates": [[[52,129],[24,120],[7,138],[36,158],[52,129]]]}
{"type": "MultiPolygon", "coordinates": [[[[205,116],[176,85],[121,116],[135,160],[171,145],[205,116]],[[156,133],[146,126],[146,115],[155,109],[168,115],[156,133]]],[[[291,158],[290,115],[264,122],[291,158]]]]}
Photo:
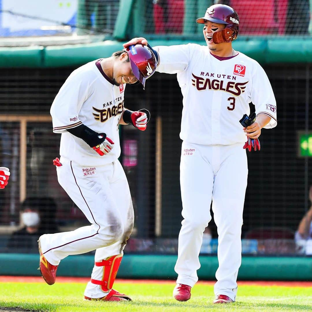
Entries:
{"type": "Polygon", "coordinates": [[[145,89],[145,80],[152,76],[157,67],[154,53],[147,46],[136,44],[126,48],[132,72],[145,89]]]}

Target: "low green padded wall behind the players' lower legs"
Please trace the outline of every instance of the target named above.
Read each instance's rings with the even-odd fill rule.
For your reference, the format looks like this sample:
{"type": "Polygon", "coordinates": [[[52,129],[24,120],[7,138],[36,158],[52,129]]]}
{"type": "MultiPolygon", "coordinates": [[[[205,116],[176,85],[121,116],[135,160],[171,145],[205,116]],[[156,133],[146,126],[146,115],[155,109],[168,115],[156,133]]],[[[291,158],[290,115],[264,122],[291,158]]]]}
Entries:
{"type": "MultiPolygon", "coordinates": [[[[216,256],[200,256],[200,280],[215,280],[216,256]]],[[[119,278],[175,279],[173,255],[125,255],[119,278]]],[[[69,256],[61,261],[58,276],[90,276],[92,255],[69,256]]],[[[36,254],[0,254],[0,275],[40,275],[36,254]],[[21,266],[21,263],[23,265],[21,266]]],[[[243,256],[238,280],[312,280],[312,257],[243,256]]]]}

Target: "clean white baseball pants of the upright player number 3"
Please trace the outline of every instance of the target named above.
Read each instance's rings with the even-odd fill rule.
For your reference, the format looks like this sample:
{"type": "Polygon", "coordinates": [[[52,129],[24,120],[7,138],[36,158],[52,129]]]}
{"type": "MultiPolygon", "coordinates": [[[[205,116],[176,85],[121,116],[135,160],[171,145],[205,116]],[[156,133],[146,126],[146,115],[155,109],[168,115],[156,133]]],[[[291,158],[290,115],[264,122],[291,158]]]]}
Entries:
{"type": "Polygon", "coordinates": [[[241,265],[241,226],[247,186],[247,156],[242,143],[199,145],[183,142],[180,163],[182,227],[175,271],[177,283],[194,286],[200,268],[199,251],[205,227],[211,220],[218,232],[215,295],[235,301],[236,278],[241,265]]]}

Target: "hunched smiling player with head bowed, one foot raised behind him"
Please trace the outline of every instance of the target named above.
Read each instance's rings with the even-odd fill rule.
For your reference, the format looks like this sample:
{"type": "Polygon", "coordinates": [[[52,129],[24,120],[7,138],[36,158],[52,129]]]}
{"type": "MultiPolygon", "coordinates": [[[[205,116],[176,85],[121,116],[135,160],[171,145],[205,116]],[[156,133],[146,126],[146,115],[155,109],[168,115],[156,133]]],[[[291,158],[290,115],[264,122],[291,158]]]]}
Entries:
{"type": "Polygon", "coordinates": [[[149,111],[124,108],[126,84],[153,75],[156,58],[146,46],[130,46],[71,73],[51,106],[53,132],[61,133],[57,178],[90,226],[39,238],[40,271],[55,282],[60,261],[95,250],[86,300],[131,300],[112,289],[134,223],[129,185],[118,161],[119,124],[144,131],[149,111]]]}

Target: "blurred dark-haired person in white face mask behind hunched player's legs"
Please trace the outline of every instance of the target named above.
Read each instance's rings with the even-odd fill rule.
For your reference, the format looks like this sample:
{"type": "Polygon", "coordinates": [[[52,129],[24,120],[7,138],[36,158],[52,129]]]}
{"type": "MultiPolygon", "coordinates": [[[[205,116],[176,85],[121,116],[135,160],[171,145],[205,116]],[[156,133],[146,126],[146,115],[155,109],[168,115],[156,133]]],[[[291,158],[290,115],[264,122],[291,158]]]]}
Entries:
{"type": "MultiPolygon", "coordinates": [[[[25,201],[27,201],[27,199],[25,201]]],[[[23,203],[21,221],[23,227],[12,233],[7,248],[16,248],[22,252],[36,251],[38,238],[43,234],[40,228],[40,213],[38,207],[31,207],[23,203]]]]}

